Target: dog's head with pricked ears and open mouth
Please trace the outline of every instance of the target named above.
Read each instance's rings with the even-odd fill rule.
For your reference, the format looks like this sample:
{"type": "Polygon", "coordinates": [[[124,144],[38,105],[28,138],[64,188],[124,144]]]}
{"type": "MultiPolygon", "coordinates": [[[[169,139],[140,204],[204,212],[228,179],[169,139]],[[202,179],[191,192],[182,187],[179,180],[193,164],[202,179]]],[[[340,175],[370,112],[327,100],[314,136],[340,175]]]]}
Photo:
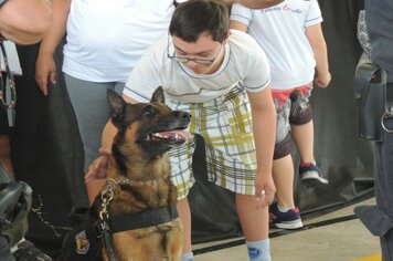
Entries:
{"type": "Polygon", "coordinates": [[[111,123],[118,129],[114,147],[120,154],[142,155],[155,158],[173,146],[179,146],[190,138],[185,129],[191,115],[172,111],[164,104],[162,87],[158,87],[150,103],[126,103],[116,92],[108,91],[111,123]]]}

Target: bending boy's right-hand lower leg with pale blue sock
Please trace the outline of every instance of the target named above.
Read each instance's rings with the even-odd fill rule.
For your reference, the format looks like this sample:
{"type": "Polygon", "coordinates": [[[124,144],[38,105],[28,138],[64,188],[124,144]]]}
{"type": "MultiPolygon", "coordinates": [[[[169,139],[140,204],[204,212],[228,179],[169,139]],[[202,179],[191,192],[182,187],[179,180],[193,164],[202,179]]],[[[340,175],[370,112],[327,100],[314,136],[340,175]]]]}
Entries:
{"type": "Polygon", "coordinates": [[[236,194],[236,210],[248,248],[249,260],[269,261],[268,208],[258,208],[255,196],[236,194]]]}

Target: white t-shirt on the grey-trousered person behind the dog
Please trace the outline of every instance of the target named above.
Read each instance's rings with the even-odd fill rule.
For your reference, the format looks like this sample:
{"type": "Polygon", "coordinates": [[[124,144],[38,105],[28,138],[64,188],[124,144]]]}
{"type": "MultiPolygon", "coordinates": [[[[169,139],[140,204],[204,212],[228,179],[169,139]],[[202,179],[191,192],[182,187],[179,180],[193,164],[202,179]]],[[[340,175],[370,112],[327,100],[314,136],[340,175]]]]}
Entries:
{"type": "Polygon", "coordinates": [[[63,71],[92,82],[126,82],[140,56],[168,33],[172,0],[71,1],[63,71]]]}

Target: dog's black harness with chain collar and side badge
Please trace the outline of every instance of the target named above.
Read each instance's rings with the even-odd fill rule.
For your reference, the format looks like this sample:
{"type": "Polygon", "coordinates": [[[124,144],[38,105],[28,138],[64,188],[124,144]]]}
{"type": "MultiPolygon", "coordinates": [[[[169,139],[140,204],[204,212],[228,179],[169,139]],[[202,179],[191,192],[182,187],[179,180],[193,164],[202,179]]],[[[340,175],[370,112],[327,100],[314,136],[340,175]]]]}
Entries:
{"type": "Polygon", "coordinates": [[[159,226],[178,218],[176,205],[146,209],[136,213],[110,215],[108,206],[114,198],[113,185],[132,186],[130,180],[108,179],[106,189],[96,198],[92,208],[79,215],[79,221],[63,242],[66,260],[92,260],[98,258],[105,247],[109,261],[116,261],[111,234],[121,231],[159,226]]]}

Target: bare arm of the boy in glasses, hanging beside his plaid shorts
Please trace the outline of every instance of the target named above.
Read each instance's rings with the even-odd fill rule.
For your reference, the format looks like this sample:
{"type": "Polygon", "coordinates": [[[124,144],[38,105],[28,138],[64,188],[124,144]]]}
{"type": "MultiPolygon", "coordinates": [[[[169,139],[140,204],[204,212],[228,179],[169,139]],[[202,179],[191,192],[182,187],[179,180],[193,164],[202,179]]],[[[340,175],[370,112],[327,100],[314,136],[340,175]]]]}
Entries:
{"type": "Polygon", "coordinates": [[[252,109],[257,160],[255,195],[258,197],[262,190],[265,190],[263,203],[267,206],[273,201],[276,191],[272,178],[273,152],[276,140],[276,108],[269,87],[256,93],[248,92],[247,95],[252,109]]]}

